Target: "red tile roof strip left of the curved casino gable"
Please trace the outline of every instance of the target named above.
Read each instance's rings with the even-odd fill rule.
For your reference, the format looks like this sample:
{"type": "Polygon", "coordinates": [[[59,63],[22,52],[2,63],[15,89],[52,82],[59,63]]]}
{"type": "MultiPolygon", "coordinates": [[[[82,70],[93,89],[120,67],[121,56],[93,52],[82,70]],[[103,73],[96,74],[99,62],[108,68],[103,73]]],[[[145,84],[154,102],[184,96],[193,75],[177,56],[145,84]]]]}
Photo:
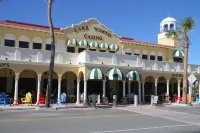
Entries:
{"type": "MultiPolygon", "coordinates": [[[[10,20],[0,21],[0,25],[8,25],[8,26],[21,27],[21,28],[30,28],[30,29],[37,29],[37,30],[49,31],[49,26],[29,24],[29,23],[16,22],[16,21],[10,21],[10,20]]],[[[61,32],[61,29],[54,27],[54,31],[55,32],[61,32]]]]}

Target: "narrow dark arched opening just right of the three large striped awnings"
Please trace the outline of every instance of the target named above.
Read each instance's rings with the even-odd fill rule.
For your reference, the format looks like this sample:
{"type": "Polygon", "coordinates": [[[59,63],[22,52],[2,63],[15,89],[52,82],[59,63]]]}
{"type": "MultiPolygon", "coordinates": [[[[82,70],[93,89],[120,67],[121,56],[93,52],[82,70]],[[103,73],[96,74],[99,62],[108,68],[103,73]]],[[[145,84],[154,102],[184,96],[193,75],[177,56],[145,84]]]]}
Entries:
{"type": "Polygon", "coordinates": [[[146,102],[150,102],[151,95],[155,94],[155,78],[153,76],[147,76],[144,84],[144,98],[146,102]]]}

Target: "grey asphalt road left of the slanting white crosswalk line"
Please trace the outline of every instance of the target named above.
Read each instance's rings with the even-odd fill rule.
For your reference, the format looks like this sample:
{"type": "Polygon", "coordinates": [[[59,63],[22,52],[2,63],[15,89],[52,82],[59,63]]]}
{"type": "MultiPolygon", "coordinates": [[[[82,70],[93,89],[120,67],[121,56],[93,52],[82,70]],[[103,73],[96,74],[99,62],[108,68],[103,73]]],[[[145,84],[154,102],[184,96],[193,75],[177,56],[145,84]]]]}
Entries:
{"type": "Polygon", "coordinates": [[[117,109],[0,112],[1,133],[200,133],[200,126],[117,109]]]}

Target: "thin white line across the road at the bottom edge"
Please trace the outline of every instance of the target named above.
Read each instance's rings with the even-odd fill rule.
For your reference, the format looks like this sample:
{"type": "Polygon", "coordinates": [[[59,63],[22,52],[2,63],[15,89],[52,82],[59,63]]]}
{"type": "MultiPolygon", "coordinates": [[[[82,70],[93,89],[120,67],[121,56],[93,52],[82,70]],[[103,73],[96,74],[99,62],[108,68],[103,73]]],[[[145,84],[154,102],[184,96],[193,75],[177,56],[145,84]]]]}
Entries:
{"type": "Polygon", "coordinates": [[[194,126],[193,124],[186,125],[173,125],[173,126],[160,126],[160,127],[146,127],[146,128],[133,128],[133,129],[123,129],[123,130],[113,130],[113,131],[100,131],[95,133],[117,133],[117,132],[128,132],[128,131],[140,131],[140,130],[151,130],[151,129],[162,129],[162,128],[175,128],[175,127],[187,127],[194,126]]]}

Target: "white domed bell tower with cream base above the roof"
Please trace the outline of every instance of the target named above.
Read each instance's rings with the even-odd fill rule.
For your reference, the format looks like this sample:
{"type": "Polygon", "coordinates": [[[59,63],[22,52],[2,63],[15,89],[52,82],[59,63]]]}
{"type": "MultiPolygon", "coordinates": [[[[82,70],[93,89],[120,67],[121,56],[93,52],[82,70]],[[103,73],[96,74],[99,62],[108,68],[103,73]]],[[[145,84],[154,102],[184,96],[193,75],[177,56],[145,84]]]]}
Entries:
{"type": "Polygon", "coordinates": [[[169,30],[177,30],[177,20],[172,17],[163,19],[160,23],[160,33],[158,34],[158,44],[164,44],[167,46],[174,46],[180,49],[180,39],[167,38],[166,32],[169,30]]]}

